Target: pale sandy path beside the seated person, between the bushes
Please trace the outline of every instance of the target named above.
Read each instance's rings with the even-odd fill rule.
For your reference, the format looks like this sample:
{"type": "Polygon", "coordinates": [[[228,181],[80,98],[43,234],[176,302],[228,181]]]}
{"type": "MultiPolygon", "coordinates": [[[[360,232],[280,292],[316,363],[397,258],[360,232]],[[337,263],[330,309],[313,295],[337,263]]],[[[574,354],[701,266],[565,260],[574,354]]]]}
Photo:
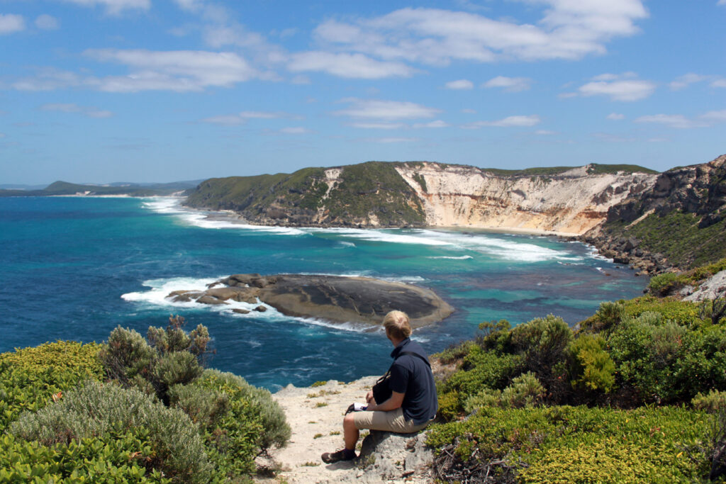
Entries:
{"type": "Polygon", "coordinates": [[[368,480],[353,462],[325,464],[320,460],[320,454],[343,448],[343,414],[351,403],[365,401],[366,392],[376,378],[363,377],[350,383],[330,380],[318,387],[298,388],[288,385],[272,395],[285,410],[287,422],[293,429],[287,447],[273,453],[274,459],[283,469],[277,476],[277,482],[340,483],[368,480]]]}

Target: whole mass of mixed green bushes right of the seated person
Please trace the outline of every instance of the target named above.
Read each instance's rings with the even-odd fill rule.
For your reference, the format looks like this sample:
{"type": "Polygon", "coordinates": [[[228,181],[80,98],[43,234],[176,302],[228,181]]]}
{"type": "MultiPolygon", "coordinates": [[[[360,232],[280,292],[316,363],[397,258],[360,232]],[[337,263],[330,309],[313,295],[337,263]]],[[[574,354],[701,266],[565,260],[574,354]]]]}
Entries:
{"type": "Polygon", "coordinates": [[[475,340],[437,355],[455,370],[438,382],[428,435],[436,479],[723,482],[726,317],[711,318],[709,303],[603,303],[577,330],[551,315],[481,324],[475,340]]]}

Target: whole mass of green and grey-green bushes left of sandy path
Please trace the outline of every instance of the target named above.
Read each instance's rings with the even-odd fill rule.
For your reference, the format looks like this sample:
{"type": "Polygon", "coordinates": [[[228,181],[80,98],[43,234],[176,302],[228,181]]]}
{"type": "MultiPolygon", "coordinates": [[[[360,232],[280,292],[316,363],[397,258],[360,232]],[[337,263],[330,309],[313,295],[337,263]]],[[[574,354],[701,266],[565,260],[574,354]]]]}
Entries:
{"type": "Polygon", "coordinates": [[[267,390],[203,368],[207,329],[0,355],[0,482],[246,482],[290,438],[267,390]]]}

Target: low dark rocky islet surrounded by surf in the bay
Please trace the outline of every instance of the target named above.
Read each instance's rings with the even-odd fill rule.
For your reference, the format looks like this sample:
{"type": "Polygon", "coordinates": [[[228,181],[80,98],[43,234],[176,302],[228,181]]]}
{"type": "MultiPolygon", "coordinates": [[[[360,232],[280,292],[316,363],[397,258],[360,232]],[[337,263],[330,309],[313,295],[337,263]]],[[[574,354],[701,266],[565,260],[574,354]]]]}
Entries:
{"type": "MultiPolygon", "coordinates": [[[[205,291],[174,291],[167,298],[211,305],[261,301],[286,316],[371,325],[380,324],[388,311],[398,309],[409,315],[414,328],[441,321],[453,312],[432,290],[370,277],[234,274],[205,291]]],[[[256,311],[264,309],[258,306],[256,311]]]]}

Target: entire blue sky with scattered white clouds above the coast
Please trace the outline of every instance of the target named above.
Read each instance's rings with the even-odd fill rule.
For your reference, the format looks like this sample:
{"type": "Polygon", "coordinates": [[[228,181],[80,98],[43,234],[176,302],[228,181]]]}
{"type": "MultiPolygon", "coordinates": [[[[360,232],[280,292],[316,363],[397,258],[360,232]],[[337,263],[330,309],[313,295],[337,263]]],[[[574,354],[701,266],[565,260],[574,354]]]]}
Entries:
{"type": "Polygon", "coordinates": [[[0,0],[0,184],[726,153],[726,0],[0,0]]]}

